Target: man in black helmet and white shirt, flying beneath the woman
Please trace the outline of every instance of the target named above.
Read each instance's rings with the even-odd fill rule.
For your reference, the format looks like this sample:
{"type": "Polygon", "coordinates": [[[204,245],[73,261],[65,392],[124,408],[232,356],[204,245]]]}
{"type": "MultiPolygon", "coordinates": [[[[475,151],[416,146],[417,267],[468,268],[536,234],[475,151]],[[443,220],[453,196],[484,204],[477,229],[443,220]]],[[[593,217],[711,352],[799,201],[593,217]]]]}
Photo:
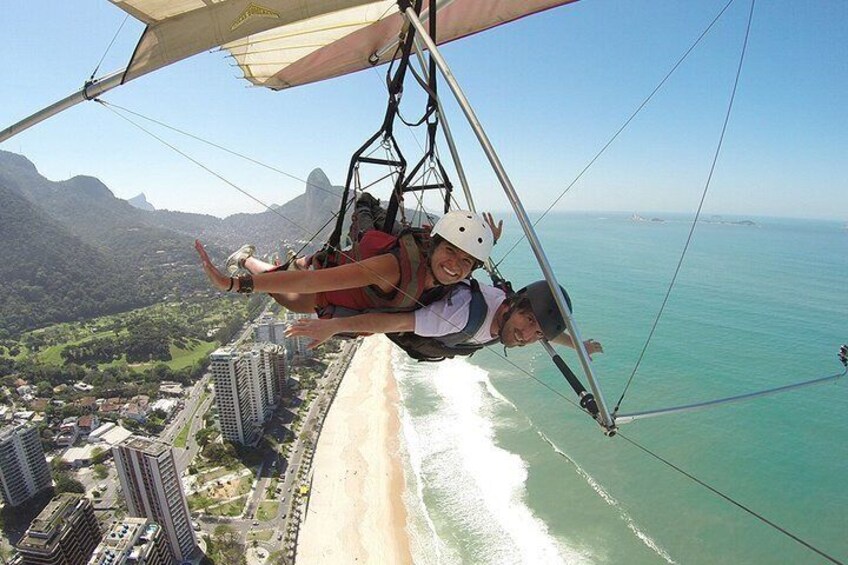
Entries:
{"type": "MultiPolygon", "coordinates": [[[[569,309],[571,299],[562,289],[569,309]]],[[[440,300],[414,312],[372,312],[331,320],[298,320],[288,335],[303,335],[323,343],[336,334],[384,333],[413,358],[439,361],[456,355],[471,355],[483,347],[501,343],[522,347],[547,339],[574,347],[565,333],[565,321],[544,280],[507,294],[471,279],[440,300]]],[[[601,344],[589,339],[586,351],[603,352],[601,344]]]]}

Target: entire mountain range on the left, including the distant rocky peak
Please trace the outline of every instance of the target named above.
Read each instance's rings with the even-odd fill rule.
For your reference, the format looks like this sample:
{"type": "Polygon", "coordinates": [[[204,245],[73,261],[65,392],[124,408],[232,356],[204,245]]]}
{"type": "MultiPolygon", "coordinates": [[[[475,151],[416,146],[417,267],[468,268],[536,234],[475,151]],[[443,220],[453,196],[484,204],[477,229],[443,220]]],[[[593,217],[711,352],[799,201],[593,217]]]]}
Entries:
{"type": "MultiPolygon", "coordinates": [[[[140,209],[90,176],[51,181],[25,157],[5,151],[0,151],[0,187],[0,274],[15,286],[2,302],[0,334],[207,291],[195,239],[221,262],[248,242],[270,253],[282,251],[286,242],[299,248],[298,241],[318,234],[317,248],[334,225],[327,220],[338,212],[342,193],[316,169],[305,193],[294,200],[222,220],[140,209]]],[[[143,194],[133,200],[147,203],[143,194]]]]}

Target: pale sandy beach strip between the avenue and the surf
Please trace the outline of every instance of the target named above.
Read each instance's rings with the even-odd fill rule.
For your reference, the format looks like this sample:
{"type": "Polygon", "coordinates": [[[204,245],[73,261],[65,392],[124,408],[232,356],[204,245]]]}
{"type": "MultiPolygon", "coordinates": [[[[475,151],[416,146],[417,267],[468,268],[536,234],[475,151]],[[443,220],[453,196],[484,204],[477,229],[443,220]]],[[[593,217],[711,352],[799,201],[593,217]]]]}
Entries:
{"type": "Polygon", "coordinates": [[[391,343],[364,340],[324,423],[298,563],[411,563],[391,343]]]}

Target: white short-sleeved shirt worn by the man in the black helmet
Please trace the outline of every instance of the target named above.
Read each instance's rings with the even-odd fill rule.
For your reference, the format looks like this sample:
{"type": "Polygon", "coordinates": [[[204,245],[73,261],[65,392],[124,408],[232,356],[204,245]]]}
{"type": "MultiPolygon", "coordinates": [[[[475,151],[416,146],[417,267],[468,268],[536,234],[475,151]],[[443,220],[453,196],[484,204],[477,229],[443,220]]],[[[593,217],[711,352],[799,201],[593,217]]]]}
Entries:
{"type": "MultiPolygon", "coordinates": [[[[495,312],[506,300],[506,294],[493,286],[480,285],[480,291],[486,301],[488,311],[483,325],[474,336],[468,340],[469,343],[486,343],[497,337],[491,334],[492,320],[495,312]]],[[[462,331],[468,323],[468,315],[471,305],[471,287],[468,283],[460,283],[460,287],[446,298],[423,306],[415,311],[416,335],[422,337],[440,337],[462,331]]]]}

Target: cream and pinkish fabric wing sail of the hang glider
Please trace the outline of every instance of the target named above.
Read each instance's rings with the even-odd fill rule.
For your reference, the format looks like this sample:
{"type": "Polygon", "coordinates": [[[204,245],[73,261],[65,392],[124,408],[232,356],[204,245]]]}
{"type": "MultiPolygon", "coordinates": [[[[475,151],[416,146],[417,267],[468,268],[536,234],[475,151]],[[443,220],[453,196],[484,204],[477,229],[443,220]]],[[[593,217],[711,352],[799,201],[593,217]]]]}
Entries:
{"type": "MultiPolygon", "coordinates": [[[[385,62],[403,29],[393,0],[110,1],[147,24],[126,80],[222,46],[253,84],[288,88],[364,69],[389,47],[385,62]]],[[[438,42],[574,1],[438,0],[438,42]]]]}

